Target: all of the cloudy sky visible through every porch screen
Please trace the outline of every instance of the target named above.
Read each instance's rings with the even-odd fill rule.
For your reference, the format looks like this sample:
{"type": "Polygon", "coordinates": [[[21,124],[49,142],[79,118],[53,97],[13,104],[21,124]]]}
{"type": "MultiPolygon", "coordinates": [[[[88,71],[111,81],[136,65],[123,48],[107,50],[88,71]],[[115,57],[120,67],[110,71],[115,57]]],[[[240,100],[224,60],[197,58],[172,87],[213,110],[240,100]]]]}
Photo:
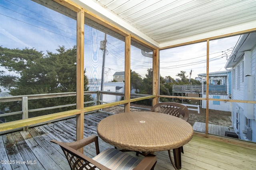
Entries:
{"type": "MultiPolygon", "coordinates": [[[[0,1],[0,45],[10,49],[25,47],[56,53],[58,46],[67,49],[76,45],[76,20],[29,0],[0,1]]],[[[104,33],[85,25],[84,66],[88,78],[101,77],[104,33]]],[[[223,71],[226,53],[234,47],[238,36],[210,41],[210,72],[223,71]],[[222,52],[225,51],[226,53],[222,52]]],[[[107,35],[105,81],[111,81],[116,71],[124,71],[124,42],[107,35]]],[[[228,56],[229,57],[229,56],[228,56]]],[[[206,72],[206,42],[160,51],[160,74],[177,78],[181,70],[191,78],[206,72]],[[204,63],[202,63],[204,62],[204,63]]],[[[144,57],[140,49],[131,48],[131,69],[145,76],[152,67],[152,59],[144,57]]],[[[3,69],[3,68],[1,68],[3,69]]]]}

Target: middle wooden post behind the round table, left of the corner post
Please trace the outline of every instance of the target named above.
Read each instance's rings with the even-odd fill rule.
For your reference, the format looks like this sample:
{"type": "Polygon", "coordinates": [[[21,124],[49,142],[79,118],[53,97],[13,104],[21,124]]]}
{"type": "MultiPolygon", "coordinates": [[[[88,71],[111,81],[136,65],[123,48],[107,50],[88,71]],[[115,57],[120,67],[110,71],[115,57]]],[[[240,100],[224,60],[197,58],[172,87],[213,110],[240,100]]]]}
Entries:
{"type": "MultiPolygon", "coordinates": [[[[125,37],[125,79],[124,100],[130,100],[131,96],[131,36],[125,37]]],[[[124,104],[124,112],[130,111],[130,102],[124,104]]]]}

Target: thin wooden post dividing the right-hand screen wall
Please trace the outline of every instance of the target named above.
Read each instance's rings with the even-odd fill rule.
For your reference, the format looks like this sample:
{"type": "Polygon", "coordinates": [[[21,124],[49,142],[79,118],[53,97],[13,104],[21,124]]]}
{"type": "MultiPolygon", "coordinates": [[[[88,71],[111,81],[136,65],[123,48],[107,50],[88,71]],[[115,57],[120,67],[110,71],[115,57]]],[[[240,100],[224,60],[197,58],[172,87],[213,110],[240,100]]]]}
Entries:
{"type": "Polygon", "coordinates": [[[207,39],[207,50],[206,50],[206,123],[205,123],[205,134],[208,135],[208,123],[209,123],[209,46],[210,40],[207,39]]]}

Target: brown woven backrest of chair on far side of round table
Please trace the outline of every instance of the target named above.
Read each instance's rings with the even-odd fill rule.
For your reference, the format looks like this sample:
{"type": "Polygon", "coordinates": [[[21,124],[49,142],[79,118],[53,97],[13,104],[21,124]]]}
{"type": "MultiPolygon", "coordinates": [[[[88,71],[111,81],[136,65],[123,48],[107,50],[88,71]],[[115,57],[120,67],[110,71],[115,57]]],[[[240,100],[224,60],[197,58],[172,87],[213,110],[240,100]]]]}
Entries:
{"type": "Polygon", "coordinates": [[[183,104],[175,102],[162,102],[153,106],[150,111],[166,113],[176,117],[180,117],[182,115],[183,119],[188,121],[188,107],[184,106],[183,104]]]}

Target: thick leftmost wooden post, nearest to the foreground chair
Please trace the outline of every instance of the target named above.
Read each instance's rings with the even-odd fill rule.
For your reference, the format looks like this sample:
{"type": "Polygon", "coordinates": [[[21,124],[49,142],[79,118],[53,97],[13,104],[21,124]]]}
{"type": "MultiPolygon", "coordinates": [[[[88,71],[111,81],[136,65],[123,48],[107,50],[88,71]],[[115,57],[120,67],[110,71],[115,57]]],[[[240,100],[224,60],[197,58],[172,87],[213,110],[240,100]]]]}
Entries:
{"type": "MultiPolygon", "coordinates": [[[[84,11],[77,13],[76,109],[84,108],[84,11]]],[[[76,140],[84,138],[84,113],[76,115],[76,140]]],[[[83,152],[83,149],[79,150],[83,152]]]]}

